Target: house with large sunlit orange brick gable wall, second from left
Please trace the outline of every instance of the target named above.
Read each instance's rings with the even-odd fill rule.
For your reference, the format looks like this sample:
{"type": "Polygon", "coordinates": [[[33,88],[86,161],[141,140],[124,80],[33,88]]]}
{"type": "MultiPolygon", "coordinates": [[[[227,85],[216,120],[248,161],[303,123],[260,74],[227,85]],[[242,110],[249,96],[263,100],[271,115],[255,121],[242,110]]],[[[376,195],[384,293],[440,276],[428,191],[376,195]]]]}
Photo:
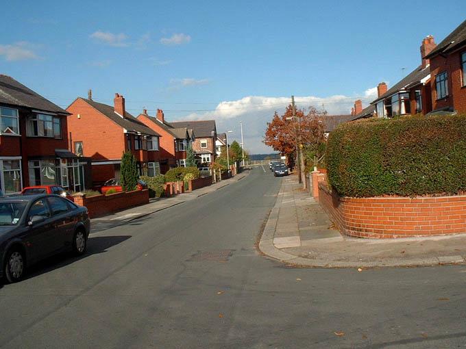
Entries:
{"type": "Polygon", "coordinates": [[[89,90],[87,99],[78,97],[66,110],[73,151],[92,159],[94,185],[119,179],[125,151],[132,151],[141,175],[160,174],[160,135],[126,112],[121,94],[112,106],[93,101],[89,90]]]}

